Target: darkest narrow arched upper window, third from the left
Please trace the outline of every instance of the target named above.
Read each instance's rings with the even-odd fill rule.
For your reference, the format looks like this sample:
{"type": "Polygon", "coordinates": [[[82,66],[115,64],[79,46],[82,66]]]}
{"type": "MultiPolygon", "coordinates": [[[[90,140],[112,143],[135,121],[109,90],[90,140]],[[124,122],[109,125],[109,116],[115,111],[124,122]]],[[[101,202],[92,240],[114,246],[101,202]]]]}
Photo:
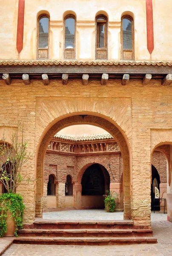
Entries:
{"type": "Polygon", "coordinates": [[[96,17],[95,58],[107,58],[107,17],[104,15],[98,15],[96,17]]]}

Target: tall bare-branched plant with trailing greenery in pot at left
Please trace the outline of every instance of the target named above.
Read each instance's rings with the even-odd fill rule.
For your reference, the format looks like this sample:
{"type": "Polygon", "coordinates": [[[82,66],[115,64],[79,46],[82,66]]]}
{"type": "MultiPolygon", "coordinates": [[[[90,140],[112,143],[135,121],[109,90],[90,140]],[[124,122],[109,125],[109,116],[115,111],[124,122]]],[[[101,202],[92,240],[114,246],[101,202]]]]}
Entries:
{"type": "MultiPolygon", "coordinates": [[[[0,195],[0,237],[17,236],[17,230],[23,227],[23,212],[26,209],[23,198],[16,193],[16,188],[24,181],[22,166],[32,156],[27,151],[28,141],[24,141],[23,127],[11,136],[11,145],[0,144],[0,182],[4,186],[4,193],[0,195]]],[[[29,181],[28,179],[27,181],[29,181]]]]}

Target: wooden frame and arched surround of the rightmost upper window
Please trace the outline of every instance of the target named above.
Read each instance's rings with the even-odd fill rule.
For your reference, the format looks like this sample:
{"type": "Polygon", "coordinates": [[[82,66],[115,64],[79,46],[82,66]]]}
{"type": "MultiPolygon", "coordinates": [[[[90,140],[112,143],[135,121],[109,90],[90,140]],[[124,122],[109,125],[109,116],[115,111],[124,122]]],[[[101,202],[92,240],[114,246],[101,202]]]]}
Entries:
{"type": "Polygon", "coordinates": [[[121,17],[120,26],[120,41],[121,41],[121,60],[134,61],[135,60],[135,33],[134,33],[134,20],[130,15],[123,15],[121,17]],[[123,49],[123,19],[128,19],[132,23],[132,49],[123,49]],[[124,58],[124,52],[131,52],[132,58],[124,58]]]}

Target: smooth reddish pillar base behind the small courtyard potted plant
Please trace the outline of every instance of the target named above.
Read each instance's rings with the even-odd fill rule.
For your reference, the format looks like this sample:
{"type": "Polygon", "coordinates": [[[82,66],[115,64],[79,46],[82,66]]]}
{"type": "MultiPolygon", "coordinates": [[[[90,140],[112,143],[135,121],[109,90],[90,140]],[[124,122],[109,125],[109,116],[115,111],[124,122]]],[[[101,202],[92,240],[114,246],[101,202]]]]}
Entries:
{"type": "MultiPolygon", "coordinates": [[[[117,193],[116,210],[123,211],[123,183],[110,183],[110,191],[117,193]]],[[[115,194],[114,193],[114,194],[115,194]]]]}

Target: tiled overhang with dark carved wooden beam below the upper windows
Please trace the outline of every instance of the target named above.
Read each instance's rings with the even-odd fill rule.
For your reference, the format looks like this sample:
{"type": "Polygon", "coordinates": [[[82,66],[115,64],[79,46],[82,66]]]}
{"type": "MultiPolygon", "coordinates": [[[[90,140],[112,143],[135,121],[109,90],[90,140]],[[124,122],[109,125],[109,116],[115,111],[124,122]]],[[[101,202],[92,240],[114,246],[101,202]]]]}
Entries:
{"type": "Polygon", "coordinates": [[[143,79],[145,74],[152,74],[152,79],[162,79],[172,74],[172,61],[1,60],[0,78],[3,73],[16,79],[23,73],[29,74],[31,79],[41,79],[43,73],[50,79],[61,78],[63,73],[68,73],[69,79],[82,79],[83,73],[88,73],[90,79],[100,79],[103,73],[108,73],[109,79],[121,79],[123,74],[129,74],[131,79],[143,79]]]}

